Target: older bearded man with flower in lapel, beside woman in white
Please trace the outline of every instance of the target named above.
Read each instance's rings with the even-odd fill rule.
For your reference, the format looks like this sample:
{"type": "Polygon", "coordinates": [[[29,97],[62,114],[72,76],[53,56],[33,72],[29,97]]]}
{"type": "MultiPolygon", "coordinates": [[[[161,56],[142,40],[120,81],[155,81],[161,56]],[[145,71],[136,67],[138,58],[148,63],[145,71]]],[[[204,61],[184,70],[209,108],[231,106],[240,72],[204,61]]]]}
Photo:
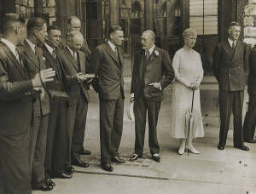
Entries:
{"type": "Polygon", "coordinates": [[[136,54],[131,78],[131,102],[134,101],[135,153],[131,161],[143,157],[143,145],[148,111],[148,144],[152,158],[160,162],[160,146],[156,126],[163,100],[163,89],[172,82],[174,71],[170,55],[154,45],[154,31],[144,31],[143,49],[136,54]],[[165,75],[165,76],[164,76],[165,75]]]}

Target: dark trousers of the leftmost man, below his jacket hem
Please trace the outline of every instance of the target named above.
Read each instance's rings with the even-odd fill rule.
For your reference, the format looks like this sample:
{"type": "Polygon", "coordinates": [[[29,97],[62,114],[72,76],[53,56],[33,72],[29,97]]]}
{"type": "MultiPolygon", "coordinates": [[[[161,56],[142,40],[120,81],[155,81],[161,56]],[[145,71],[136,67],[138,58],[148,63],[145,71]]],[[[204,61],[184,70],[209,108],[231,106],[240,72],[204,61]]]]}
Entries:
{"type": "Polygon", "coordinates": [[[0,135],[0,193],[31,194],[29,133],[0,135]]]}

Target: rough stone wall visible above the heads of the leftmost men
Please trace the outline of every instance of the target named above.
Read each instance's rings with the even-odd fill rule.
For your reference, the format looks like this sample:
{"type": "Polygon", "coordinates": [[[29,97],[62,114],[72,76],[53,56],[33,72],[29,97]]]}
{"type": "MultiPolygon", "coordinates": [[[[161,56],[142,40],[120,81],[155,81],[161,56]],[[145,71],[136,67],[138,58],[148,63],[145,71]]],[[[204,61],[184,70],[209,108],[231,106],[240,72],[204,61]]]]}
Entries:
{"type": "MultiPolygon", "coordinates": [[[[26,18],[34,15],[34,0],[15,0],[16,13],[22,14],[26,18]]],[[[43,0],[43,14],[48,14],[49,25],[56,20],[55,0],[43,0]]]]}

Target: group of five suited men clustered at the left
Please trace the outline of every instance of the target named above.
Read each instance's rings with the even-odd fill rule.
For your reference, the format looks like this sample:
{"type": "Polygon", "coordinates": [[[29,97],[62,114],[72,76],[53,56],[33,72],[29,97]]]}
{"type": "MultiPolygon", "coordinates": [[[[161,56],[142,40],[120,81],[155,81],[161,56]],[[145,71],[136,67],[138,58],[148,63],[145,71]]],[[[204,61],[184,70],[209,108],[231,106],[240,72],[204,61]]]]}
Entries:
{"type": "MultiPolygon", "coordinates": [[[[0,41],[0,193],[50,191],[50,178],[70,179],[80,159],[89,102],[84,37],[72,30],[61,49],[61,30],[42,18],[25,23],[6,14],[0,41]]],[[[79,21],[79,22],[78,22],[79,21]]],[[[81,26],[81,25],[80,25],[81,26]]],[[[85,45],[86,46],[86,45],[85,45]]],[[[90,52],[88,51],[88,54],[90,52]]]]}

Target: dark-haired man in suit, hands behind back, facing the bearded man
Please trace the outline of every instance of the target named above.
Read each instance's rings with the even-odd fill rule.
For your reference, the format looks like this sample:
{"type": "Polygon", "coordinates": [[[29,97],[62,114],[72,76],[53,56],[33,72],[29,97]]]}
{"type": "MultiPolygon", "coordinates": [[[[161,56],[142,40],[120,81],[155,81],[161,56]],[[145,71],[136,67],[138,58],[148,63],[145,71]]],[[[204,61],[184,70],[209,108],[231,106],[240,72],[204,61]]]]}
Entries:
{"type": "Polygon", "coordinates": [[[90,71],[96,74],[96,90],[100,98],[100,132],[102,168],[113,171],[110,163],[125,163],[119,157],[123,131],[124,78],[120,46],[124,32],[120,26],[110,26],[108,43],[96,47],[91,55],[90,71]]]}

